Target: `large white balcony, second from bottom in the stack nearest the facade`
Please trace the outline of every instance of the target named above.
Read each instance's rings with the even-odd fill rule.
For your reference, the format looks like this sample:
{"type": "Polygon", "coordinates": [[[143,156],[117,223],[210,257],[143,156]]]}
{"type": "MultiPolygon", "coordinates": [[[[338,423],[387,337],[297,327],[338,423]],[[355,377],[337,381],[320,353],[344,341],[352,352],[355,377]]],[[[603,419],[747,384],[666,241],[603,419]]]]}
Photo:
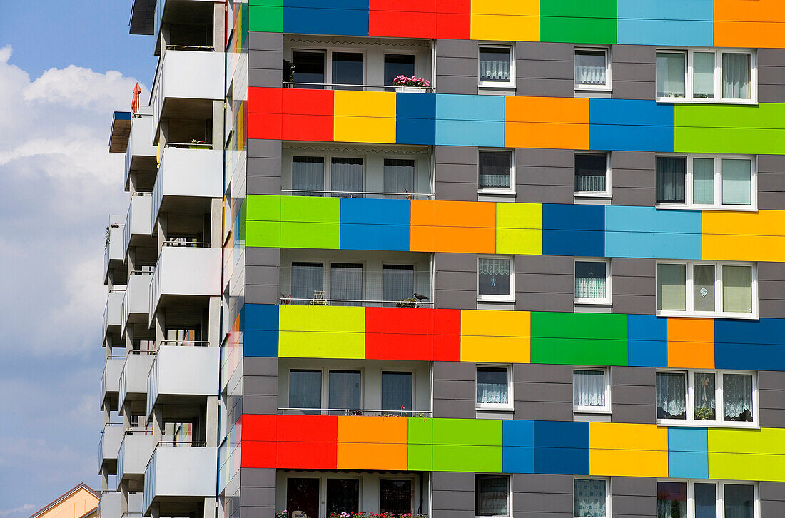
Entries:
{"type": "Polygon", "coordinates": [[[205,341],[162,341],[148,376],[147,414],[156,404],[218,395],[219,351],[205,341]]]}

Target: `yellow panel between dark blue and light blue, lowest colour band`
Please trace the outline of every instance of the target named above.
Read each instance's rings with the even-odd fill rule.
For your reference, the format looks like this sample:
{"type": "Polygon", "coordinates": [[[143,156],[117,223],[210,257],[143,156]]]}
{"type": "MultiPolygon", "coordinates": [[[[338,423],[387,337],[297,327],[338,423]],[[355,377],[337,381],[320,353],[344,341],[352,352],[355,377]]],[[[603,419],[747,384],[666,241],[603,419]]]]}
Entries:
{"type": "Polygon", "coordinates": [[[590,423],[589,472],[604,476],[668,476],[668,429],[590,423]]]}

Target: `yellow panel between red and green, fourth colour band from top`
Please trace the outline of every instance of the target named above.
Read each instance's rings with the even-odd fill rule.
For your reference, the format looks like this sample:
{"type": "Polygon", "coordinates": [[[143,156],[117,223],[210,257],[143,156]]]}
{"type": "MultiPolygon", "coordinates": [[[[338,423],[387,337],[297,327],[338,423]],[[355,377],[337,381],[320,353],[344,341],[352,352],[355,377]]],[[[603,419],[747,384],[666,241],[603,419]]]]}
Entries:
{"type": "Polygon", "coordinates": [[[461,311],[461,361],[529,363],[531,313],[461,311]]]}

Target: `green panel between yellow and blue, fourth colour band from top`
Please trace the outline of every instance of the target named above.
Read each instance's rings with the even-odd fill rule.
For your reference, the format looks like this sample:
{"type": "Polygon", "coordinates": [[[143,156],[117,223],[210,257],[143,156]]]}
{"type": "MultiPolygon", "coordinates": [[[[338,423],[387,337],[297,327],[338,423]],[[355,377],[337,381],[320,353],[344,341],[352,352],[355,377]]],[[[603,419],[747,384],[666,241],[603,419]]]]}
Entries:
{"type": "Polygon", "coordinates": [[[627,316],[531,312],[531,363],[627,365],[627,316]]]}

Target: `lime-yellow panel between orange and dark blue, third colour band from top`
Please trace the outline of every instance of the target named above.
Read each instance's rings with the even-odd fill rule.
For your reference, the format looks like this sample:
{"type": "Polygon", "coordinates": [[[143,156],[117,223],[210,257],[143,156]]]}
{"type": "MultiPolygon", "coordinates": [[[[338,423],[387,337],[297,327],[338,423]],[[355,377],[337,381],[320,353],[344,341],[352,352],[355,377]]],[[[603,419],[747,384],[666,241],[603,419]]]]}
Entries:
{"type": "Polygon", "coordinates": [[[496,254],[542,255],[542,204],[496,204],[496,254]]]}

